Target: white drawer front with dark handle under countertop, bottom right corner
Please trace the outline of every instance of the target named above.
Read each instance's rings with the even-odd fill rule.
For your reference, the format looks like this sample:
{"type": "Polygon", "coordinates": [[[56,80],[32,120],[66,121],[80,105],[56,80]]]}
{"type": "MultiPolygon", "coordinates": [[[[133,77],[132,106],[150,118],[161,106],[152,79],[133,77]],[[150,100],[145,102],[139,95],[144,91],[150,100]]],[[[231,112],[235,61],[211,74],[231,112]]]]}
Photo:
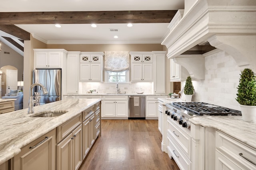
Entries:
{"type": "Polygon", "coordinates": [[[241,169],[256,170],[256,149],[216,131],[216,150],[235,162],[241,169]],[[248,159],[248,160],[246,160],[248,159]],[[254,163],[251,163],[254,162],[254,163]]]}

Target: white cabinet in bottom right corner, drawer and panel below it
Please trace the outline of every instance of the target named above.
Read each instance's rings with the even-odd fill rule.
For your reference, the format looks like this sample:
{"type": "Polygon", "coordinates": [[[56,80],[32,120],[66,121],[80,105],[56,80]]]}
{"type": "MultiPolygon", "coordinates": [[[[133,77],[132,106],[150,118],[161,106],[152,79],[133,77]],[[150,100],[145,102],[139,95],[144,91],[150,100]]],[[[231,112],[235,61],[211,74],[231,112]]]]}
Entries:
{"type": "Polygon", "coordinates": [[[215,170],[256,170],[256,150],[216,131],[215,170]]]}

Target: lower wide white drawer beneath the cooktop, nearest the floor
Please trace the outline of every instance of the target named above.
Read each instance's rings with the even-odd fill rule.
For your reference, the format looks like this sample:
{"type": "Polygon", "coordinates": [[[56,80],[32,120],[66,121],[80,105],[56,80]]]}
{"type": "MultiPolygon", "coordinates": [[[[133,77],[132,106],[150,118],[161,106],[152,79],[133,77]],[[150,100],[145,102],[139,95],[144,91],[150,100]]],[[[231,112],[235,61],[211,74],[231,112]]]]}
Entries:
{"type": "Polygon", "coordinates": [[[191,162],[167,134],[167,154],[172,157],[181,170],[191,170],[191,162]]]}

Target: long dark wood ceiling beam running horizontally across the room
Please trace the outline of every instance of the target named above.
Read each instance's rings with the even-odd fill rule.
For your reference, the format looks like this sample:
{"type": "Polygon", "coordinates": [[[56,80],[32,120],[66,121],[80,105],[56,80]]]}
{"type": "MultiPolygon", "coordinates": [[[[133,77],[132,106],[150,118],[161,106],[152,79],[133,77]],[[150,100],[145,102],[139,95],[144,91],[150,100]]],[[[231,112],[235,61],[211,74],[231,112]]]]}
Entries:
{"type": "Polygon", "coordinates": [[[0,12],[0,24],[169,23],[177,10],[0,12]]]}

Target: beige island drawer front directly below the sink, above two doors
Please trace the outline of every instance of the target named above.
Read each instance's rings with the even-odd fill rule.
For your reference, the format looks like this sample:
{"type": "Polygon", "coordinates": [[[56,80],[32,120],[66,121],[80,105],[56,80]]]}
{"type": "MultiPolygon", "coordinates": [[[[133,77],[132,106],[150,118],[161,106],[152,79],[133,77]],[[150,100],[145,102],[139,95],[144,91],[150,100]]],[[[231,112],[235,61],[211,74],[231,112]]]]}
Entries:
{"type": "Polygon", "coordinates": [[[69,135],[78,125],[82,123],[82,114],[73,117],[57,127],[57,143],[69,135]]]}

